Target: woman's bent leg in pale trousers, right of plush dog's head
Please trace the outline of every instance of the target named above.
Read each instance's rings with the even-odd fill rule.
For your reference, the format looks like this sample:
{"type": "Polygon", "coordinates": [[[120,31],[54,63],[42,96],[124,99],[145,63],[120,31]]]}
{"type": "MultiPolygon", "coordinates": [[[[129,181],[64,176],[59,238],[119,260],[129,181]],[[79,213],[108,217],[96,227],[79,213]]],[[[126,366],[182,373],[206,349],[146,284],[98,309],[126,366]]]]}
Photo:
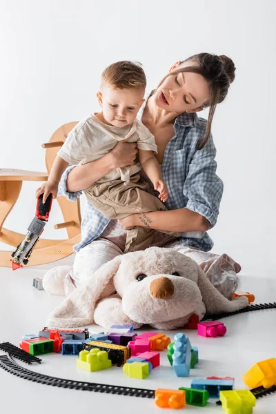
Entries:
{"type": "Polygon", "coordinates": [[[227,299],[233,299],[233,293],[237,289],[236,273],[239,273],[241,266],[230,256],[225,253],[219,256],[214,253],[203,252],[198,248],[183,246],[179,242],[167,244],[166,248],[173,248],[195,260],[221,295],[224,295],[227,299]]]}

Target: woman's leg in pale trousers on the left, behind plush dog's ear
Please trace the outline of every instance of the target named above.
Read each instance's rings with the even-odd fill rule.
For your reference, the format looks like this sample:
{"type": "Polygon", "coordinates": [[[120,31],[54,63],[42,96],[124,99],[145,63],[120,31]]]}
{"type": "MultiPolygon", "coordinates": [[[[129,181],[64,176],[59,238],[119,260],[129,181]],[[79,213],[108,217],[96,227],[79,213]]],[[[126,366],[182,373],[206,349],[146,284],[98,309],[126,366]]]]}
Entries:
{"type": "MultiPolygon", "coordinates": [[[[76,253],[73,268],[57,266],[48,270],[43,277],[43,288],[52,295],[67,296],[77,286],[86,282],[102,264],[122,253],[121,249],[109,240],[94,240],[76,253]]],[[[107,286],[107,289],[110,295],[114,291],[112,286],[107,286]]]]}

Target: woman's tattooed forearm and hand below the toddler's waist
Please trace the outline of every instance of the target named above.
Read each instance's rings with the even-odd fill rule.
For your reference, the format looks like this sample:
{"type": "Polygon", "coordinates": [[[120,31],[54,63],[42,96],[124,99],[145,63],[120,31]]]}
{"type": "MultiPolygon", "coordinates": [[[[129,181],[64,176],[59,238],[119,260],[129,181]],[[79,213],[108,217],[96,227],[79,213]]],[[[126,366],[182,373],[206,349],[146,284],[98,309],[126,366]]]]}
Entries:
{"type": "Polygon", "coordinates": [[[207,231],[210,228],[210,223],[205,217],[195,213],[195,211],[188,210],[188,208],[133,214],[119,220],[119,223],[126,230],[140,226],[184,233],[207,231]]]}

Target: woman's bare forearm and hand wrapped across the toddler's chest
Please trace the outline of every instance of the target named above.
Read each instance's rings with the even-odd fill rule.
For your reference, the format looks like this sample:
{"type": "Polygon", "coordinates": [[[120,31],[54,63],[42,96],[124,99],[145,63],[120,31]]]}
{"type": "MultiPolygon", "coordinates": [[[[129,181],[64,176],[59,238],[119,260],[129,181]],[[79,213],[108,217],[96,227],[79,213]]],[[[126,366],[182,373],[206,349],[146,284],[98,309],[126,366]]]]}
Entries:
{"type": "Polygon", "coordinates": [[[108,154],[84,166],[72,168],[67,178],[67,190],[69,193],[89,188],[96,181],[115,170],[135,165],[137,157],[136,143],[119,141],[108,154]]]}

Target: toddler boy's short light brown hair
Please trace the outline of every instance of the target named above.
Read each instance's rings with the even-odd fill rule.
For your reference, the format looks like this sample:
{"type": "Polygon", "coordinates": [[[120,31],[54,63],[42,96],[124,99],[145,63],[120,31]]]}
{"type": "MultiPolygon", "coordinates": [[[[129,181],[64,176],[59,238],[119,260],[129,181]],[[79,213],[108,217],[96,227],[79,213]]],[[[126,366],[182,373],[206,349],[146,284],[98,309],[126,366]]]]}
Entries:
{"type": "Polygon", "coordinates": [[[101,86],[116,89],[146,88],[146,75],[138,62],[119,61],[112,63],[101,74],[101,86]]]}

